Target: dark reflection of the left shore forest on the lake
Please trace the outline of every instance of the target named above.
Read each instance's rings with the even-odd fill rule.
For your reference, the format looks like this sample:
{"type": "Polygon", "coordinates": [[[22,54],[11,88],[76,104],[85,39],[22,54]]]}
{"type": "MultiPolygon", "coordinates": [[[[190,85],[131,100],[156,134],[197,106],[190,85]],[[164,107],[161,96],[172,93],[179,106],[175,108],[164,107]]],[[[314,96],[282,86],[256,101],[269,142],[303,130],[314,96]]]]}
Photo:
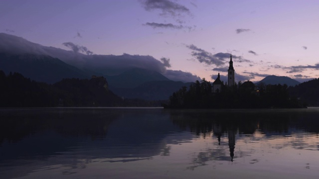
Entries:
{"type": "Polygon", "coordinates": [[[85,109],[21,109],[14,114],[1,111],[0,143],[17,142],[25,136],[53,130],[67,136],[103,138],[109,125],[120,113],[103,113],[85,109]]]}

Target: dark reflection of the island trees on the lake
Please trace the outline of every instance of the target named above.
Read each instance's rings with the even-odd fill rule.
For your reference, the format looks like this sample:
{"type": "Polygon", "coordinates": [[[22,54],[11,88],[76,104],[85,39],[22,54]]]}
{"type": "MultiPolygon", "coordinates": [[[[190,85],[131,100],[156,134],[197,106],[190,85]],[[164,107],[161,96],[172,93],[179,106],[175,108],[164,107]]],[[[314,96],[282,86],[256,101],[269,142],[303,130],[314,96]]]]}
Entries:
{"type": "Polygon", "coordinates": [[[287,133],[294,129],[319,133],[318,110],[261,109],[261,110],[171,110],[173,124],[196,135],[213,133],[220,137],[229,127],[239,134],[253,134],[256,129],[264,133],[287,133]]]}

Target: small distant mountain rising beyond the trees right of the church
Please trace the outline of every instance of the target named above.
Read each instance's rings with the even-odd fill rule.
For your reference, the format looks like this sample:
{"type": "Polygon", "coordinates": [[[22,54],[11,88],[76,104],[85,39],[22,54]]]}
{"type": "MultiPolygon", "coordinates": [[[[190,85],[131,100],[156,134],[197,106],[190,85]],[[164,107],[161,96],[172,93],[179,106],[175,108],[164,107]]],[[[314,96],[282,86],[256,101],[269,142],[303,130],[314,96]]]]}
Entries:
{"type": "Polygon", "coordinates": [[[261,80],[260,82],[258,82],[257,84],[259,83],[264,83],[266,85],[284,85],[286,84],[288,87],[289,86],[296,86],[296,85],[299,85],[300,82],[294,80],[294,79],[291,79],[289,77],[278,77],[278,76],[275,76],[275,75],[271,75],[271,76],[268,76],[266,78],[264,78],[263,80],[261,80]]]}

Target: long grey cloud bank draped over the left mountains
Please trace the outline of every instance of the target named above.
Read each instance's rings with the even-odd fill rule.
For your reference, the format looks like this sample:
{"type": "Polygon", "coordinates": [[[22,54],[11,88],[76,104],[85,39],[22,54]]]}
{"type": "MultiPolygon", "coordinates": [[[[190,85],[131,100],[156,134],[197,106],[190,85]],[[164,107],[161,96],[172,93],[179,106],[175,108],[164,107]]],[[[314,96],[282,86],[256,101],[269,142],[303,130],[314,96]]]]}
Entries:
{"type": "Polygon", "coordinates": [[[86,47],[71,42],[66,42],[64,45],[71,48],[72,51],[46,47],[27,41],[22,37],[0,33],[0,53],[48,55],[80,70],[90,69],[90,73],[94,71],[95,75],[119,75],[126,70],[141,68],[159,72],[174,81],[194,82],[200,80],[199,77],[188,72],[167,70],[167,67],[170,66],[167,58],[162,58],[160,61],[149,55],[86,55],[87,53],[74,53],[74,51],[83,52],[83,50],[89,52],[86,47]]]}

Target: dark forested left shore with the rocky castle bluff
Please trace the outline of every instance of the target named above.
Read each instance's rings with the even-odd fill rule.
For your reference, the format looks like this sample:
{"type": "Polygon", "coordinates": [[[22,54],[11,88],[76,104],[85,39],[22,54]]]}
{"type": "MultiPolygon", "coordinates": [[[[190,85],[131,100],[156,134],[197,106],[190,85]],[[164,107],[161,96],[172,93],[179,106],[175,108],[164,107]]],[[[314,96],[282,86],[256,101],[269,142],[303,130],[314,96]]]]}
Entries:
{"type": "Polygon", "coordinates": [[[163,101],[124,99],[108,89],[104,77],[63,79],[53,85],[31,81],[19,73],[0,71],[0,107],[138,107],[163,101]]]}

